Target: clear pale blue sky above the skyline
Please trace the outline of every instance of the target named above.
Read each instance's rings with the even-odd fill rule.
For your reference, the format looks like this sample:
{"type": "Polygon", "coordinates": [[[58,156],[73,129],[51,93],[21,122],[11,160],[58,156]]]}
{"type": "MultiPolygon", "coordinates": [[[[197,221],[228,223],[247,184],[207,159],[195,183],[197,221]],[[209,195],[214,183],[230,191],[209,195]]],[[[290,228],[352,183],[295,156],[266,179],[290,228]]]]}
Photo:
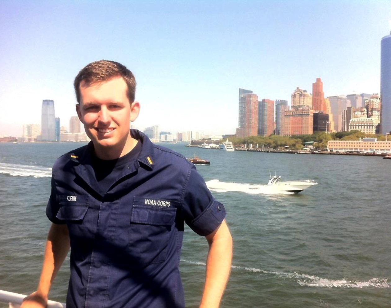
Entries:
{"type": "Polygon", "coordinates": [[[136,76],[136,126],[233,133],[239,87],[290,102],[321,77],[326,96],[380,92],[391,1],[0,2],[0,134],[40,123],[52,99],[75,115],[73,79],[108,59],[136,76]]]}

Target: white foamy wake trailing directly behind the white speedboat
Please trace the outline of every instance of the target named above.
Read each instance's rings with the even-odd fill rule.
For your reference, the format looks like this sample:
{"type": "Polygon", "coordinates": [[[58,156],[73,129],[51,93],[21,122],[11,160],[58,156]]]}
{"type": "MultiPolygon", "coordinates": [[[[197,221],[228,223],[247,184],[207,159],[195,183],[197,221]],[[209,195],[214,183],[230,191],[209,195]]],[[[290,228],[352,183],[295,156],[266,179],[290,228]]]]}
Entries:
{"type": "Polygon", "coordinates": [[[206,182],[208,189],[216,192],[245,192],[246,194],[293,194],[293,192],[281,191],[273,187],[273,185],[256,185],[256,184],[241,184],[220,182],[220,180],[210,180],[206,182]]]}

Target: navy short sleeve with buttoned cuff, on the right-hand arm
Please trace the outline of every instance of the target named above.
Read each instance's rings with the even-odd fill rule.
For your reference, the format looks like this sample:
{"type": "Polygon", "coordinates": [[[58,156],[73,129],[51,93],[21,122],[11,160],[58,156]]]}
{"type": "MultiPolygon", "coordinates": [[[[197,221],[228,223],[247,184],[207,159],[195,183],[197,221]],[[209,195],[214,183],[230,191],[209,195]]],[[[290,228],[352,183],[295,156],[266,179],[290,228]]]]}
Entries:
{"type": "Polygon", "coordinates": [[[215,231],[226,215],[224,205],[213,198],[194,165],[188,178],[182,213],[187,225],[202,236],[215,231]]]}

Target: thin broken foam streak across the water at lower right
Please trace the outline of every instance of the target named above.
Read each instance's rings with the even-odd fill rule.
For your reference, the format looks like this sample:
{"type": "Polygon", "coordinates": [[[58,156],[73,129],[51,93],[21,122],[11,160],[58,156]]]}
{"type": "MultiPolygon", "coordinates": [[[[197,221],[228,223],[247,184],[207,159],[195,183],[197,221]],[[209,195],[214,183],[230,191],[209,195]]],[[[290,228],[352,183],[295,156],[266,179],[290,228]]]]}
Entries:
{"type": "MultiPolygon", "coordinates": [[[[204,262],[193,262],[189,260],[181,260],[185,263],[191,263],[195,265],[203,265],[204,262]]],[[[330,280],[327,278],[320,278],[314,275],[299,274],[296,272],[284,273],[284,272],[273,272],[273,271],[264,271],[263,269],[255,269],[251,267],[244,266],[231,266],[232,269],[242,270],[246,272],[255,272],[262,274],[275,275],[278,278],[292,279],[304,287],[323,287],[323,288],[391,288],[391,283],[387,279],[381,278],[372,278],[368,281],[348,281],[345,279],[342,280],[330,280]]]]}

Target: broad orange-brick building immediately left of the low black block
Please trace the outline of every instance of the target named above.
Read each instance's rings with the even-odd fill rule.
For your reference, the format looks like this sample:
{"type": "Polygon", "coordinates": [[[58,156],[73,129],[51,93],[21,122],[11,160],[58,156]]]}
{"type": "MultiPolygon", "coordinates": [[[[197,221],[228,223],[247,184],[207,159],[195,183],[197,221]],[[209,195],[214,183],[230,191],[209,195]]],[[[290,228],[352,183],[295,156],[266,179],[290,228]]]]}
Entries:
{"type": "Polygon", "coordinates": [[[314,129],[314,110],[292,106],[284,114],[284,136],[310,135],[314,129]]]}

